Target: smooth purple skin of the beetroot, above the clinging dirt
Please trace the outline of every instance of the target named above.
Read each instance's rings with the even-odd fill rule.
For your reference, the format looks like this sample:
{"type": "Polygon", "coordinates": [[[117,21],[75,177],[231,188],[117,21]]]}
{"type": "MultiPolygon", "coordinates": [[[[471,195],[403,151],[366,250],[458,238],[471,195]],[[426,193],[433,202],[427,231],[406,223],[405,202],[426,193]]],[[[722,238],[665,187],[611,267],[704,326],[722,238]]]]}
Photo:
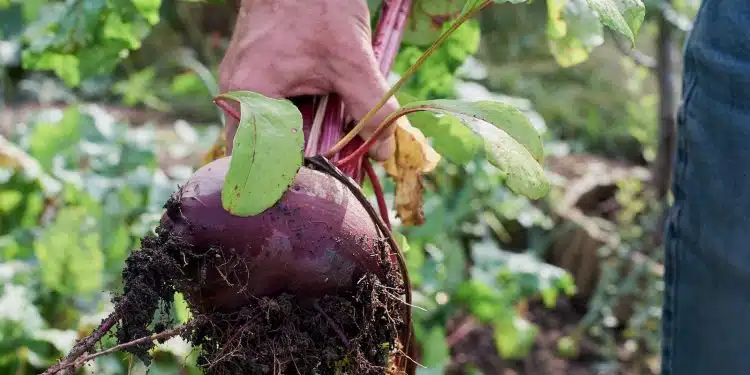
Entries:
{"type": "Polygon", "coordinates": [[[182,188],[180,212],[168,210],[161,221],[198,254],[218,248],[225,260],[236,254],[234,259],[244,262],[232,266],[237,279],[229,283],[225,277],[231,270],[218,272],[215,265],[193,269],[195,277],[205,278],[201,288],[191,292],[199,305],[225,310],[239,308],[254,296],[319,297],[354,288],[365,272],[385,276],[380,254],[387,244],[342,183],[302,167],[273,207],[239,217],[221,204],[229,161],[221,158],[196,171],[182,188]]]}

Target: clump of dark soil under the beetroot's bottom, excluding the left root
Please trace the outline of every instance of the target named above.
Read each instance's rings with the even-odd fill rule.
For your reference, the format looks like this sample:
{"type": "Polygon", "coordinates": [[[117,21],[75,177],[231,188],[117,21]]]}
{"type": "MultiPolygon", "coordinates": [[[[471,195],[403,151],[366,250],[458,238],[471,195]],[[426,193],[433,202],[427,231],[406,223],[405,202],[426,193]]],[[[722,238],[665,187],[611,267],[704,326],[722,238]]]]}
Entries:
{"type": "Polygon", "coordinates": [[[383,375],[403,324],[392,317],[397,307],[385,288],[369,275],[348,295],[264,297],[205,316],[191,337],[202,347],[199,366],[221,375],[383,375]]]}

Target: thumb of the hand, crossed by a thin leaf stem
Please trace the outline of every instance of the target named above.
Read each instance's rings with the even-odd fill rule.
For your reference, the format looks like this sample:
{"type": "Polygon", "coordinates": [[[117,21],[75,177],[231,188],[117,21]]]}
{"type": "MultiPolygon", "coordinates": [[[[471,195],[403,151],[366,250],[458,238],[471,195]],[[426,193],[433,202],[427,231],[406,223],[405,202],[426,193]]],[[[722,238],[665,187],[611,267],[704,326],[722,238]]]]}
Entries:
{"type": "MultiPolygon", "coordinates": [[[[334,89],[341,95],[346,105],[347,112],[357,121],[362,119],[390,90],[390,85],[385,76],[380,72],[375,56],[370,52],[366,58],[358,60],[358,64],[350,64],[345,70],[337,74],[334,81],[334,89]]],[[[349,63],[352,60],[347,61],[349,63]]],[[[396,98],[391,97],[385,105],[365,124],[359,135],[367,140],[370,139],[378,126],[394,111],[399,108],[396,98]]],[[[370,156],[377,161],[384,161],[393,155],[396,150],[396,141],[393,136],[395,122],[380,134],[377,141],[370,149],[370,156]]]]}

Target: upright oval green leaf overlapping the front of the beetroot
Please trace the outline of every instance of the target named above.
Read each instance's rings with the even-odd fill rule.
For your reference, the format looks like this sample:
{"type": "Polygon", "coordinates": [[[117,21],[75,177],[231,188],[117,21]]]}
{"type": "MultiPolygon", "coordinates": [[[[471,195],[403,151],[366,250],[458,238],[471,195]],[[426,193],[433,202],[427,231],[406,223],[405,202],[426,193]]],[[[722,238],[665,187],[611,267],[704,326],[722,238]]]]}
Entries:
{"type": "Polygon", "coordinates": [[[257,215],[281,199],[302,166],[302,114],[289,100],[249,91],[219,98],[239,102],[241,115],[222,204],[234,215],[257,215]]]}

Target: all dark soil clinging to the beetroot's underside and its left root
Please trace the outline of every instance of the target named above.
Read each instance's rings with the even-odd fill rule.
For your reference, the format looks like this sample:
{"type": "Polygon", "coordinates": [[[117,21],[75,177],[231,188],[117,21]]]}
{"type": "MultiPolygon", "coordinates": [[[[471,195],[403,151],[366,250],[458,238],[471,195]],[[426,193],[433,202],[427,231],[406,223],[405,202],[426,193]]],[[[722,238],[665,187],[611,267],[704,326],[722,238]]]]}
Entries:
{"type": "MultiPolygon", "coordinates": [[[[353,290],[318,299],[282,294],[255,298],[236,311],[192,308],[189,295],[201,285],[186,265],[231,263],[219,265],[217,254],[193,251],[161,227],[144,238],[126,261],[123,293],[114,298],[122,318],[118,343],[173,326],[158,317],[169,316],[174,293],[182,292],[193,313],[183,338],[199,350],[198,366],[207,375],[382,375],[394,371],[394,358],[402,358],[397,337],[404,330],[405,307],[398,272],[388,272],[393,277],[385,282],[364,275],[353,290]]],[[[148,364],[152,347],[148,342],[128,351],[148,364]]]]}

